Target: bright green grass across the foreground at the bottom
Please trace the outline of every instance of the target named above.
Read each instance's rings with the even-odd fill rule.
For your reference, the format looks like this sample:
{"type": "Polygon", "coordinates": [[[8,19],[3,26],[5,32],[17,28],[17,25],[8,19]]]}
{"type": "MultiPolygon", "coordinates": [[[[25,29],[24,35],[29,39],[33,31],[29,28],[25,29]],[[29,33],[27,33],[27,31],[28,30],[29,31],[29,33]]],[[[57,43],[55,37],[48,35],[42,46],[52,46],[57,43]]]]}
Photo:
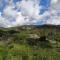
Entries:
{"type": "Polygon", "coordinates": [[[0,60],[60,60],[60,48],[41,48],[16,43],[7,46],[0,42],[0,60]]]}

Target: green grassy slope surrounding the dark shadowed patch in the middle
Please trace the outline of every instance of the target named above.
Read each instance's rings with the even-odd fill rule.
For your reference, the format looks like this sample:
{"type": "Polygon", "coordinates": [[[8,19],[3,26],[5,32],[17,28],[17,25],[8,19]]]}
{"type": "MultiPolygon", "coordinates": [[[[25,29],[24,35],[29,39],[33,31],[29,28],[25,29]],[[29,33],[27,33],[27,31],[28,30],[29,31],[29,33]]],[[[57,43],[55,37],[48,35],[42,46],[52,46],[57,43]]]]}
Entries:
{"type": "Polygon", "coordinates": [[[9,39],[13,37],[9,41],[8,38],[0,41],[0,60],[60,60],[60,31],[58,30],[45,27],[19,30],[19,33],[15,33],[15,35],[8,32],[4,36],[9,35],[9,39]],[[57,43],[50,43],[52,48],[47,47],[45,42],[41,44],[38,42],[37,45],[33,46],[29,45],[26,42],[26,37],[30,33],[38,34],[40,37],[46,36],[48,40],[57,41],[57,43]]]}

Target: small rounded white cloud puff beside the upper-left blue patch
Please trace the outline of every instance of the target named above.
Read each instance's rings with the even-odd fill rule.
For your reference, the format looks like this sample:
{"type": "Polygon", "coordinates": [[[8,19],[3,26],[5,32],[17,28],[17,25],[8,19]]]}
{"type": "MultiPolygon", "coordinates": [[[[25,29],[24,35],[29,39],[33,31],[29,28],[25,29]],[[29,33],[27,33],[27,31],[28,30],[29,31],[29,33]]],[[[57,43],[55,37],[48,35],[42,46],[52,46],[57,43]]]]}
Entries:
{"type": "Polygon", "coordinates": [[[14,17],[16,13],[17,12],[14,10],[14,7],[12,6],[7,6],[3,12],[4,16],[11,16],[11,17],[14,17]]]}

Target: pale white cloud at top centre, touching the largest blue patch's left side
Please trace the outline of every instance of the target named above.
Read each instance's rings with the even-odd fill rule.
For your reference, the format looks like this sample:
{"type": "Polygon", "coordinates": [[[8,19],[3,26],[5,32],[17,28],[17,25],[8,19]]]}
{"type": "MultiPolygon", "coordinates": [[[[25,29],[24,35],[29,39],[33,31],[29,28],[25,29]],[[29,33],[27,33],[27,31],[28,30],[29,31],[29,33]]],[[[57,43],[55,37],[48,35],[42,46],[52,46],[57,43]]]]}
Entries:
{"type": "Polygon", "coordinates": [[[21,9],[24,16],[29,16],[33,18],[39,17],[40,6],[36,0],[22,0],[22,2],[17,2],[17,7],[21,9]]]}

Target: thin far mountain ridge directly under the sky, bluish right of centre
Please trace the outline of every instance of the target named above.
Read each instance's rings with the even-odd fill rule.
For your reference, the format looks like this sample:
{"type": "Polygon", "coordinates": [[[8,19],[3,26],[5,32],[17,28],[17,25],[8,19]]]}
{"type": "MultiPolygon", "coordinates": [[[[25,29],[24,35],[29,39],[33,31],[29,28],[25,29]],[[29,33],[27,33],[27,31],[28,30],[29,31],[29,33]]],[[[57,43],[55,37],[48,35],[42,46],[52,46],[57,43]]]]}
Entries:
{"type": "Polygon", "coordinates": [[[0,27],[0,29],[14,29],[14,28],[59,28],[60,29],[60,25],[51,25],[51,24],[44,24],[44,25],[22,25],[22,26],[15,26],[15,27],[0,27]]]}

